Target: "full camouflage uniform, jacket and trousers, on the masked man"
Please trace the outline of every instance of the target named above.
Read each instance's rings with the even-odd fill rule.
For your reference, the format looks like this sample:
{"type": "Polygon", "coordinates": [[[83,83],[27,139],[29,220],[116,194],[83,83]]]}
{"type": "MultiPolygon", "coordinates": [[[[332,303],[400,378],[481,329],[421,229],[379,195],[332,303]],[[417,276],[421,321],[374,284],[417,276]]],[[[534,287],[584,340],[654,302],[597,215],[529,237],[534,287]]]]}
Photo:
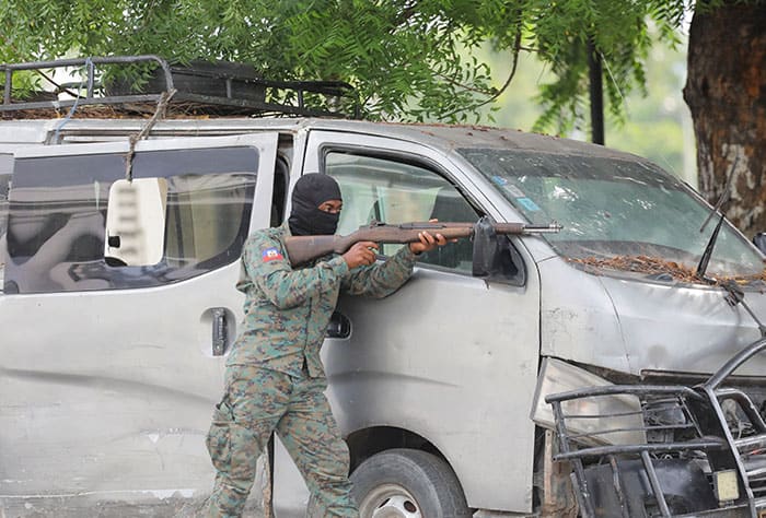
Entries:
{"type": "Polygon", "coordinates": [[[321,516],[357,517],[349,452],[324,396],[320,349],[340,290],[384,297],[409,278],[415,256],[403,247],[384,263],[349,271],[340,256],[293,270],[288,223],[253,235],[237,290],[245,322],[227,362],[225,396],[216,408],[208,448],[217,470],[209,516],[240,516],[257,458],[279,434],[315,497],[321,516]]]}

